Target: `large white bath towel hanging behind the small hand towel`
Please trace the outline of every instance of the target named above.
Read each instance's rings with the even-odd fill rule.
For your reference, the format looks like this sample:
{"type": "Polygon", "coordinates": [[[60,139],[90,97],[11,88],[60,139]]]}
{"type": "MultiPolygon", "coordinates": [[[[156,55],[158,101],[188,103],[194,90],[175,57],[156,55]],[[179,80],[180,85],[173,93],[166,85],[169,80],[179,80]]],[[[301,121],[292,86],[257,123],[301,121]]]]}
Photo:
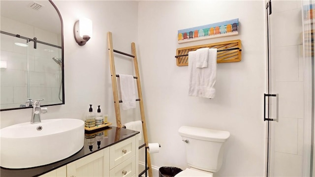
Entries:
{"type": "Polygon", "coordinates": [[[189,96],[214,98],[217,80],[217,49],[209,49],[208,67],[196,68],[196,51],[189,52],[189,96]]]}

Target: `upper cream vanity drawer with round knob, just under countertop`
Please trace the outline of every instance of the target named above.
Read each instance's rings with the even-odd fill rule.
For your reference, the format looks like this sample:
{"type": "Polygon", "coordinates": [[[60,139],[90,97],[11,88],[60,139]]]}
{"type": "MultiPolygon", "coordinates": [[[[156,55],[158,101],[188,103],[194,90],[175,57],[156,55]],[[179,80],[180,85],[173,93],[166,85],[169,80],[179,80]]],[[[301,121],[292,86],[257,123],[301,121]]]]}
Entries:
{"type": "Polygon", "coordinates": [[[109,148],[110,169],[113,169],[117,165],[121,164],[122,162],[133,156],[136,152],[135,148],[135,136],[111,146],[109,148]]]}

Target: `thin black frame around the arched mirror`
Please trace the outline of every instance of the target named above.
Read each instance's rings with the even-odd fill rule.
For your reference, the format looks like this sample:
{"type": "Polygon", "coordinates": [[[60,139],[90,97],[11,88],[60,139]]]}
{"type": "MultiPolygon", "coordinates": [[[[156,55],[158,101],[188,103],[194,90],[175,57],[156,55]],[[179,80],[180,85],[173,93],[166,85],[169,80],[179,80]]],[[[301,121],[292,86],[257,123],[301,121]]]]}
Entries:
{"type": "MultiPolygon", "coordinates": [[[[62,49],[62,59],[64,61],[64,50],[63,50],[63,18],[57,8],[57,6],[54,4],[54,2],[52,0],[48,0],[56,9],[59,18],[60,18],[60,22],[61,22],[61,49],[62,49]]],[[[55,105],[63,105],[64,104],[64,62],[62,62],[62,84],[63,84],[63,102],[62,103],[58,103],[58,104],[49,104],[49,105],[41,105],[41,106],[55,106],[55,105]]],[[[19,110],[19,109],[29,109],[32,108],[32,106],[29,107],[23,107],[23,108],[7,108],[7,109],[1,109],[0,111],[10,111],[10,110],[19,110]]]]}

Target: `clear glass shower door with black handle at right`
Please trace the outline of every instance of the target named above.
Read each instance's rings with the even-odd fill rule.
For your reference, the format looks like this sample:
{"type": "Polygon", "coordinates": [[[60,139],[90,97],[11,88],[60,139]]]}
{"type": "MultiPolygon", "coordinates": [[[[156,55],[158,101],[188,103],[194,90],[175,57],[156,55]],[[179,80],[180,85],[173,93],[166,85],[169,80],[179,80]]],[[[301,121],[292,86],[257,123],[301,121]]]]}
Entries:
{"type": "Polygon", "coordinates": [[[266,176],[301,177],[305,148],[301,0],[269,0],[266,26],[266,176]]]}

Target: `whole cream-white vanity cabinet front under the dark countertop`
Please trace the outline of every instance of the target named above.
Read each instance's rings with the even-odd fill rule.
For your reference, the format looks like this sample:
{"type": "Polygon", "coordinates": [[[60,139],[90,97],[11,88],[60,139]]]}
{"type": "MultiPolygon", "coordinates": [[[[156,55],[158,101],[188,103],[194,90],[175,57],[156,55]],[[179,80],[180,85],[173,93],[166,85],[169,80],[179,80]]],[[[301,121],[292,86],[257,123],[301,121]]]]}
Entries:
{"type": "Polygon", "coordinates": [[[137,177],[138,134],[40,177],[137,177]]]}

